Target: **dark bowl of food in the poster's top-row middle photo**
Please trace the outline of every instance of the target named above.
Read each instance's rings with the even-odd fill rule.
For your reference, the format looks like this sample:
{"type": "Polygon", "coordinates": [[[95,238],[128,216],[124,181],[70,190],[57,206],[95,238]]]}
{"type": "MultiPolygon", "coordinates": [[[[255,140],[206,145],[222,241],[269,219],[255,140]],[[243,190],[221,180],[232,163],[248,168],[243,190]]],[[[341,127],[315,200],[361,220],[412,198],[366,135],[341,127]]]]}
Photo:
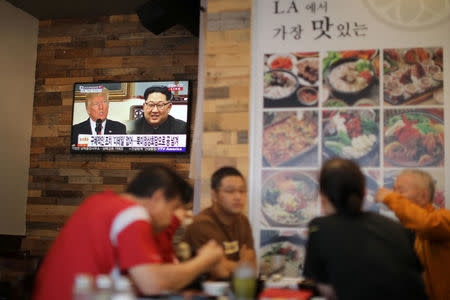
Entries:
{"type": "Polygon", "coordinates": [[[356,100],[369,91],[375,72],[368,60],[349,57],[331,64],[325,75],[333,95],[346,101],[356,100]]]}

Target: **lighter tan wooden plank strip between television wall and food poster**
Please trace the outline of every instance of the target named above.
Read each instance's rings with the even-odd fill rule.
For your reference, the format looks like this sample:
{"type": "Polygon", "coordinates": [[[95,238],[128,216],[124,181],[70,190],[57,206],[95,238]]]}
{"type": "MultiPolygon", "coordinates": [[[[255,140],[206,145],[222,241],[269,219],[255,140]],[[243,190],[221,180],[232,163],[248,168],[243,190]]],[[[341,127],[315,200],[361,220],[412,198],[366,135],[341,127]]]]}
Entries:
{"type": "Polygon", "coordinates": [[[248,178],[252,0],[208,0],[201,208],[211,174],[224,165],[248,178]]]}

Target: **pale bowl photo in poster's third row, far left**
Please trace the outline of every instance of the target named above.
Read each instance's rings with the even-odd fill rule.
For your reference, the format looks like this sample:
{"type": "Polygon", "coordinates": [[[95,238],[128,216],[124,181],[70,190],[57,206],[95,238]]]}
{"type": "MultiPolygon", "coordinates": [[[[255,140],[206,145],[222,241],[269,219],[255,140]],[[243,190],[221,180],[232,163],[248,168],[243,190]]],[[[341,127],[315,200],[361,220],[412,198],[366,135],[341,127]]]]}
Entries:
{"type": "Polygon", "coordinates": [[[262,188],[262,212],[271,226],[306,226],[319,214],[317,181],[306,172],[270,172],[262,188]]]}

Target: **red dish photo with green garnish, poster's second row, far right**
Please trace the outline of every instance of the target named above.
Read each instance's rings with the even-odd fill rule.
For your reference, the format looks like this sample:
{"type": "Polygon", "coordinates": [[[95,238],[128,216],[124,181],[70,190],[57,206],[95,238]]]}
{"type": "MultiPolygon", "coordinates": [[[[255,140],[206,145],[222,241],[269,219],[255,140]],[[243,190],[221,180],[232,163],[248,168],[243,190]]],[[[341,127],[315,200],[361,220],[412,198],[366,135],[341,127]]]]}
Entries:
{"type": "Polygon", "coordinates": [[[385,166],[442,166],[442,109],[388,110],[384,117],[385,166]]]}

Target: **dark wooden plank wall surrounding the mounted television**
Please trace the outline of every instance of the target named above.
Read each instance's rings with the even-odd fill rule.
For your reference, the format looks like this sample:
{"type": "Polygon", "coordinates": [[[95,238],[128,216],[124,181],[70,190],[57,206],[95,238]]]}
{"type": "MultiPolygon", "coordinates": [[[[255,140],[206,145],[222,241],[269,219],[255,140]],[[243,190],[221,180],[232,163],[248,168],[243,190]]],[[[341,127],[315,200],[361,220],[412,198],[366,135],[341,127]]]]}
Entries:
{"type": "Polygon", "coordinates": [[[180,25],[156,36],[137,15],[40,22],[23,250],[45,254],[85,197],[123,191],[150,162],[188,177],[187,155],[70,154],[73,83],[189,79],[195,102],[197,73],[198,38],[180,25]]]}

